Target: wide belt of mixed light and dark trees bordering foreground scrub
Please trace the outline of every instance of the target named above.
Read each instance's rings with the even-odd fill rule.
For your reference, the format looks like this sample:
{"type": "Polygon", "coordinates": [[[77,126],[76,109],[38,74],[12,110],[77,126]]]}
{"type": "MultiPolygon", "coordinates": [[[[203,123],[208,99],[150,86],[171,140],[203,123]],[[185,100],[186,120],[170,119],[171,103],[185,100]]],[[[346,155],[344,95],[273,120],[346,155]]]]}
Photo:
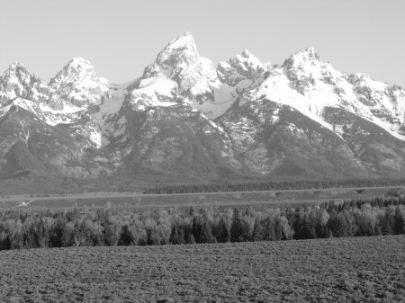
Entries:
{"type": "Polygon", "coordinates": [[[405,198],[272,209],[8,210],[0,248],[184,245],[405,234],[405,198]]]}

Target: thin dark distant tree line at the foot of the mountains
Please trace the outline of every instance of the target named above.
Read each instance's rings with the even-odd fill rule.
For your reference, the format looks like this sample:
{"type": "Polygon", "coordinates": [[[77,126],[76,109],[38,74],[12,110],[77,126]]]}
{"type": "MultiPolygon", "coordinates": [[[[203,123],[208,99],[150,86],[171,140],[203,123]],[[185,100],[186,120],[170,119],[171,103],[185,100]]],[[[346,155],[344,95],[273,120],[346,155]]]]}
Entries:
{"type": "Polygon", "coordinates": [[[388,187],[405,186],[402,179],[354,179],[354,180],[319,180],[319,181],[288,181],[261,183],[227,183],[212,184],[184,184],[170,185],[148,189],[144,193],[193,193],[193,192],[259,192],[259,191],[287,191],[311,190],[329,188],[359,188],[359,187],[388,187]]]}

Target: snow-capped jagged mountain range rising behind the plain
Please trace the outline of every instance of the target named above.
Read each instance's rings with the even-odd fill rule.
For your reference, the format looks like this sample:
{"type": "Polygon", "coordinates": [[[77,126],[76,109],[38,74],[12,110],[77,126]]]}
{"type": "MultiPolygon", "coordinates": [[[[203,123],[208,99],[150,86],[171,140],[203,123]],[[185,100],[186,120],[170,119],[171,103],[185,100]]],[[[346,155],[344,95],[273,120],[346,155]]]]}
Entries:
{"type": "Polygon", "coordinates": [[[83,58],[49,84],[16,62],[0,76],[0,183],[403,177],[404,111],[401,86],[313,48],[282,66],[244,50],[214,67],[189,32],[125,85],[83,58]]]}

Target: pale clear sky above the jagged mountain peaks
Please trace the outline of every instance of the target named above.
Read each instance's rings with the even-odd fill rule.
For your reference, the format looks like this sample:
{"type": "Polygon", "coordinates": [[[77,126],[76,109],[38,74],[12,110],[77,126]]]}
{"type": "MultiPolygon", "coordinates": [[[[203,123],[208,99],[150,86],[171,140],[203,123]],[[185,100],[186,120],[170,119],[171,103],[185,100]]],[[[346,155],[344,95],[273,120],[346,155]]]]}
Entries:
{"type": "Polygon", "coordinates": [[[250,50],[283,64],[306,47],[336,69],[405,87],[403,0],[0,0],[0,73],[20,61],[49,81],[75,57],[125,83],[193,33],[215,64],[250,50]]]}

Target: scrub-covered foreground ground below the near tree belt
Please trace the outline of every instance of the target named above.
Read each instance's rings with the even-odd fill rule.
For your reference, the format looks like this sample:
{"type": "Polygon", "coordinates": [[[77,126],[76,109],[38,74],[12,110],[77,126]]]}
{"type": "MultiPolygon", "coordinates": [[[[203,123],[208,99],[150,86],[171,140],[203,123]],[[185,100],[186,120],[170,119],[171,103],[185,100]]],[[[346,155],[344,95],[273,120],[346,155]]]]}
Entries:
{"type": "Polygon", "coordinates": [[[404,302],[405,236],[0,252],[1,302],[404,302]]]}

